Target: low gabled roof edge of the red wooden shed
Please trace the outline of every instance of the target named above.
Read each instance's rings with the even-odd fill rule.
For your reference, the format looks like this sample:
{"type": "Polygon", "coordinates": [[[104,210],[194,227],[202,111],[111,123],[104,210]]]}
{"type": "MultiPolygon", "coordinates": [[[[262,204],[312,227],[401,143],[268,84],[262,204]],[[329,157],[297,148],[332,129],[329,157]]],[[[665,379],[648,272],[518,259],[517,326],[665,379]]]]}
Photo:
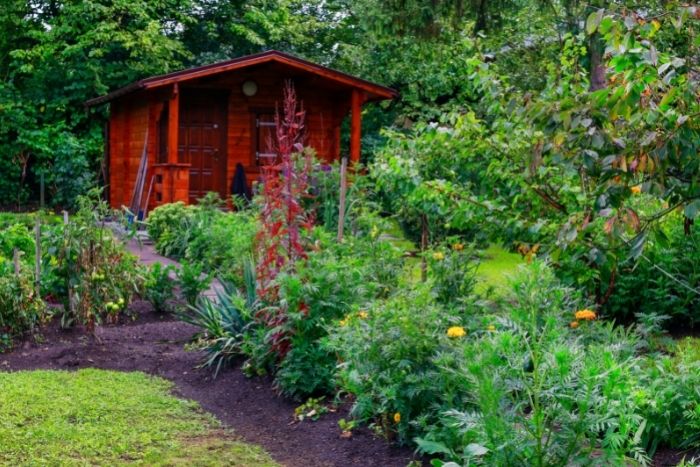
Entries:
{"type": "Polygon", "coordinates": [[[225,60],[223,62],[212,63],[209,65],[188,68],[186,70],[175,71],[165,75],[145,78],[112,91],[109,94],[90,99],[89,101],[85,102],[85,105],[88,107],[100,105],[134,91],[158,88],[174,83],[181,83],[183,81],[215,75],[217,73],[224,73],[227,71],[238,70],[271,62],[281,63],[289,66],[290,68],[316,74],[329,81],[360,89],[367,94],[367,100],[393,99],[398,96],[398,93],[395,90],[386,86],[372,83],[371,81],[352,76],[342,71],[318,65],[288,53],[280,52],[278,50],[268,50],[267,52],[246,55],[244,57],[225,60]]]}

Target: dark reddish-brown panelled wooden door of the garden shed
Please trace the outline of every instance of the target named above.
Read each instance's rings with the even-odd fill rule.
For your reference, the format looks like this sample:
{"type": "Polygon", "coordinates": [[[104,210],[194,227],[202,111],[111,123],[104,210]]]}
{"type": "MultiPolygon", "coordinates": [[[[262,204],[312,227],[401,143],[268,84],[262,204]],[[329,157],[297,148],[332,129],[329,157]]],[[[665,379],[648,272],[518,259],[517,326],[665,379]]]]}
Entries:
{"type": "Polygon", "coordinates": [[[210,191],[226,190],[228,95],[207,90],[184,90],[180,96],[178,161],[190,164],[189,202],[210,191]]]}

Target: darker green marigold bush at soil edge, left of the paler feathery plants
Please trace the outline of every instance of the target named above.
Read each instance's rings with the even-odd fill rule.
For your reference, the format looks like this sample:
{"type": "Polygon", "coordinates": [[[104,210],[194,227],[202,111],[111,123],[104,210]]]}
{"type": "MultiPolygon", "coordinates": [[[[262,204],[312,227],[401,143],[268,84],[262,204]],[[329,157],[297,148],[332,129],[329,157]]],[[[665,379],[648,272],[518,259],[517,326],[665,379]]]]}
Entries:
{"type": "Polygon", "coordinates": [[[459,315],[434,303],[429,287],[399,293],[335,322],[330,348],[341,362],[340,387],[355,398],[353,416],[407,442],[418,434],[412,421],[434,421],[442,401],[459,406],[466,388],[441,373],[432,358],[443,349],[446,330],[463,324],[459,315]]]}

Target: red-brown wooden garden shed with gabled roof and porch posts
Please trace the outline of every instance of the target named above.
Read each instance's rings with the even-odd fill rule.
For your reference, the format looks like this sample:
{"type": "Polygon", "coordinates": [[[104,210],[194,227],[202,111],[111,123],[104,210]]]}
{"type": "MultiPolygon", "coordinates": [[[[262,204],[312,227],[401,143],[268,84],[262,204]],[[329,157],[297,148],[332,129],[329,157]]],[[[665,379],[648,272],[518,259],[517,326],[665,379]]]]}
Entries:
{"type": "Polygon", "coordinates": [[[248,183],[256,180],[270,157],[268,135],[287,80],[306,110],[307,145],[328,162],[340,157],[340,126],[348,113],[350,160],[357,162],[362,105],[396,96],[390,88],[274,50],[137,81],[86,103],[111,104],[111,206],[134,203],[137,179],[143,185],[137,205],[149,209],[193,203],[210,191],[227,198],[238,164],[248,183]]]}

